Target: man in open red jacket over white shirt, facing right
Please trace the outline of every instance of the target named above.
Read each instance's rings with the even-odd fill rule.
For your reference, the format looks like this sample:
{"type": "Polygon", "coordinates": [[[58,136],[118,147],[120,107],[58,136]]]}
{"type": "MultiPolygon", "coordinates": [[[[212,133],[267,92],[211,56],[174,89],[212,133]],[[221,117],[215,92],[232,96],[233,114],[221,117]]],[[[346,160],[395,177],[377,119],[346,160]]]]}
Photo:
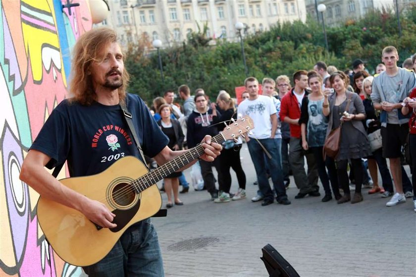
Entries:
{"type": "Polygon", "coordinates": [[[293,74],[295,87],[282,98],[280,105],[280,120],[290,125],[289,164],[296,186],[299,188],[295,199],[304,198],[307,194],[320,196],[316,163],[312,153],[305,154],[302,149],[301,126],[299,125],[302,99],[308,97],[309,94],[309,91],[306,90],[308,86],[307,74],[308,72],[305,70],[298,70],[293,74]],[[308,176],[305,172],[304,156],[308,162],[308,176]]]}

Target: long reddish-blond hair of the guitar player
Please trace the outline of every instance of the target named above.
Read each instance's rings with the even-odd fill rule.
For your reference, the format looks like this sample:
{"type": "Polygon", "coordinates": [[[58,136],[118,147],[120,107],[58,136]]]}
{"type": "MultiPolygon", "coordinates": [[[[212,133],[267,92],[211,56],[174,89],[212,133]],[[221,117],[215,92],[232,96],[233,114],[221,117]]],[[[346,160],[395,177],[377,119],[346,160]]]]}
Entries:
{"type": "MultiPolygon", "coordinates": [[[[81,105],[91,105],[96,99],[93,88],[90,67],[93,62],[100,62],[100,51],[108,44],[117,42],[117,34],[106,27],[94,28],[82,34],[76,42],[73,50],[71,79],[69,91],[73,95],[71,101],[77,101],[81,105]]],[[[123,85],[118,88],[118,97],[124,101],[126,87],[130,76],[124,67],[122,72],[123,85]]]]}

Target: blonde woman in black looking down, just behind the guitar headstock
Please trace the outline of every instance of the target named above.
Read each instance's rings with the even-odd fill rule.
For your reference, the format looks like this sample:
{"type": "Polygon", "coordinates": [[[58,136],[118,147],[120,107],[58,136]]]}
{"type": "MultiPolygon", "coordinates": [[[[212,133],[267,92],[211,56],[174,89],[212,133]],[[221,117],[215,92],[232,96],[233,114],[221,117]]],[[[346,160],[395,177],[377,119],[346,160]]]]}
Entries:
{"type": "MultiPolygon", "coordinates": [[[[218,95],[216,104],[224,111],[220,116],[217,115],[215,103],[211,103],[212,110],[212,123],[217,124],[218,131],[224,129],[224,123],[227,125],[231,124],[231,118],[237,119],[236,108],[234,100],[230,97],[227,92],[223,92],[218,95]]],[[[222,173],[223,182],[220,184],[219,190],[222,193],[214,200],[214,203],[222,203],[230,201],[230,188],[231,188],[231,174],[230,167],[233,168],[238,180],[238,191],[232,197],[232,200],[240,200],[246,198],[246,174],[244,173],[243,167],[241,167],[240,150],[243,141],[238,138],[238,142],[227,140],[223,144],[221,155],[219,159],[219,167],[222,173]],[[220,158],[221,157],[221,158],[220,158]]]]}

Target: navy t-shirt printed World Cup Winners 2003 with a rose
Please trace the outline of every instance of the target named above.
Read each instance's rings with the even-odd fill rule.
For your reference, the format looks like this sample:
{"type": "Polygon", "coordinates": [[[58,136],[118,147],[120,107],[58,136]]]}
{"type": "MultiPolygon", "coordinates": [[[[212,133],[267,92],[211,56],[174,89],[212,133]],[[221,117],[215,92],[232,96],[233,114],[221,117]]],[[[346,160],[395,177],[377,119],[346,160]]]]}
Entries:
{"type": "MultiPolygon", "coordinates": [[[[126,104],[143,152],[156,156],[169,140],[140,97],[127,94],[126,104]]],[[[83,106],[64,100],[52,111],[30,149],[51,157],[48,168],[67,160],[71,177],[100,173],[126,156],[142,160],[123,117],[119,105],[94,102],[83,106]]]]}

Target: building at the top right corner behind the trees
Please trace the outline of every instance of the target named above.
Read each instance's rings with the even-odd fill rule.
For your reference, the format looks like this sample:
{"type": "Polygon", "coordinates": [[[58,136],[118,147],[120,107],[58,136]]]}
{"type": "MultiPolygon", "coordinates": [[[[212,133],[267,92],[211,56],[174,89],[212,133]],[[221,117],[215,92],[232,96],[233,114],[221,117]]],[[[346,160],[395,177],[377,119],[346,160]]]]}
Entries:
{"type": "MultiPolygon", "coordinates": [[[[415,0],[397,0],[399,11],[415,4],[415,0]]],[[[317,19],[315,4],[325,4],[325,24],[337,26],[348,20],[357,20],[375,9],[396,10],[396,0],[306,0],[307,13],[317,19]]]]}

